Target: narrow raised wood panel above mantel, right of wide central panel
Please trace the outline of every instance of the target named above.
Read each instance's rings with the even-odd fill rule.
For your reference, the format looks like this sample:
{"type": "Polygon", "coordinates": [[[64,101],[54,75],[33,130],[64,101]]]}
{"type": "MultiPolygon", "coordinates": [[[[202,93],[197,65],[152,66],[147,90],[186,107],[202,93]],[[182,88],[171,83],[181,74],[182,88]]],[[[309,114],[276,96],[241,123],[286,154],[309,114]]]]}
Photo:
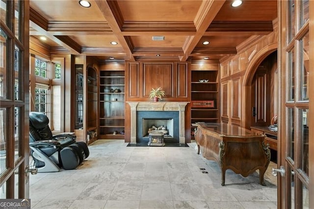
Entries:
{"type": "Polygon", "coordinates": [[[187,98],[187,63],[178,63],[177,75],[177,97],[187,98]]]}

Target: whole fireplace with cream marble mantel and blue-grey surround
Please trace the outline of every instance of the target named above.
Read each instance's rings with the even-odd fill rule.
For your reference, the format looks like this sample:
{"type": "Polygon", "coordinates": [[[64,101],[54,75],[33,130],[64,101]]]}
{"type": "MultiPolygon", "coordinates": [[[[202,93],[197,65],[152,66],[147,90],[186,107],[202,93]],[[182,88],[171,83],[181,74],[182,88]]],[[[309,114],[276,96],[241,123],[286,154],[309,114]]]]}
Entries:
{"type": "MultiPolygon", "coordinates": [[[[131,107],[131,144],[139,142],[147,142],[145,134],[143,133],[143,118],[145,119],[157,119],[157,120],[173,120],[173,135],[168,140],[168,143],[185,143],[184,136],[184,120],[185,120],[185,106],[188,102],[127,102],[131,107]],[[142,117],[141,112],[153,112],[153,116],[142,117]],[[155,112],[155,113],[154,113],[155,112]],[[157,113],[157,114],[156,114],[157,113]],[[138,115],[141,117],[140,124],[138,122],[138,115]],[[144,139],[143,139],[144,136],[144,139]],[[142,139],[139,139],[142,138],[142,139]],[[138,140],[139,139],[139,140],[138,140]]],[[[146,122],[144,122],[146,123],[146,122]]],[[[162,126],[162,125],[161,125],[162,126]]],[[[166,125],[171,127],[172,125],[166,125]]],[[[146,129],[146,128],[145,128],[146,129]]],[[[144,132],[146,132],[145,130],[144,132]]]]}

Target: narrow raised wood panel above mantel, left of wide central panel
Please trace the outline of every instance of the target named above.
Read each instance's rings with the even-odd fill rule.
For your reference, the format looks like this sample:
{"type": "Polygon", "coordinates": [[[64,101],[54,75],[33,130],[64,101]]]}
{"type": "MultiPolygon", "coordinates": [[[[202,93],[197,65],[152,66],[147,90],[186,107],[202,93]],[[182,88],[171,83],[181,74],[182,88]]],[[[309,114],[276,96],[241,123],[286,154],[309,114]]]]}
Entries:
{"type": "Polygon", "coordinates": [[[129,63],[129,98],[139,98],[139,65],[138,63],[129,63]]]}

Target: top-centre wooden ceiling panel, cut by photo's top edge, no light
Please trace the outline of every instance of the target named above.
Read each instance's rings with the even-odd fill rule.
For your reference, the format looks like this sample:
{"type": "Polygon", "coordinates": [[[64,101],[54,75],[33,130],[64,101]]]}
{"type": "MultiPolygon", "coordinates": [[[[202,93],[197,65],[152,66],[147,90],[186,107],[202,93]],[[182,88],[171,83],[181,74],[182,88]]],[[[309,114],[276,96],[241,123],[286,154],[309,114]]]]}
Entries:
{"type": "Polygon", "coordinates": [[[202,0],[118,0],[124,21],[194,21],[202,0]]]}

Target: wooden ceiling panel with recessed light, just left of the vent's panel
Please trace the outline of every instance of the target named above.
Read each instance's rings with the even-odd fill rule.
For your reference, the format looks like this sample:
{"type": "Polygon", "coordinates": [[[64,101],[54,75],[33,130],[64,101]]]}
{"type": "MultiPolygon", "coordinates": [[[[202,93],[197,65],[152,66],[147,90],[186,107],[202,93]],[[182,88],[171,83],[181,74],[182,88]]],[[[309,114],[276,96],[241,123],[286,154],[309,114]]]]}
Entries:
{"type": "Polygon", "coordinates": [[[117,41],[116,36],[114,35],[78,35],[78,36],[69,36],[75,42],[77,42],[81,47],[112,47],[119,48],[121,45],[117,41]],[[111,41],[118,42],[117,45],[110,44],[111,41]]]}

